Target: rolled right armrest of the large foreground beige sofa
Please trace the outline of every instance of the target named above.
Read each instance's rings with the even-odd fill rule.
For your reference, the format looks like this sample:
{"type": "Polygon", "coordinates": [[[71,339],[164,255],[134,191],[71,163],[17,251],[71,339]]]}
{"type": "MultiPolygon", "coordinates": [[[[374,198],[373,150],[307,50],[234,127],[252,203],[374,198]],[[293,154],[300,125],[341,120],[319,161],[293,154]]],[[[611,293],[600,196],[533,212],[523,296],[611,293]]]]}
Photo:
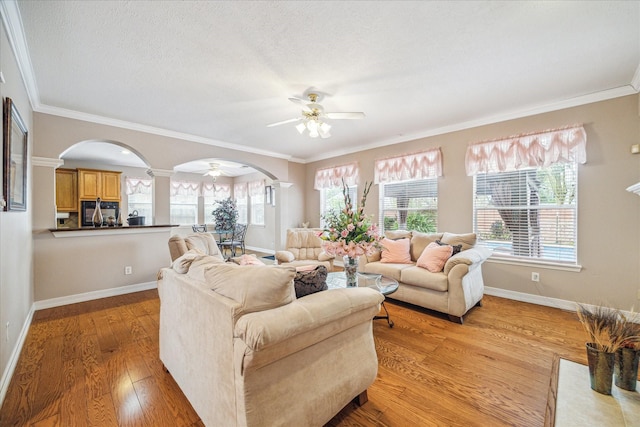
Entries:
{"type": "Polygon", "coordinates": [[[327,337],[313,331],[328,324],[336,335],[355,324],[371,321],[384,297],[370,288],[331,289],[307,295],[294,302],[246,314],[238,319],[234,336],[253,351],[264,350],[294,336],[304,335],[314,342],[327,337]]]}

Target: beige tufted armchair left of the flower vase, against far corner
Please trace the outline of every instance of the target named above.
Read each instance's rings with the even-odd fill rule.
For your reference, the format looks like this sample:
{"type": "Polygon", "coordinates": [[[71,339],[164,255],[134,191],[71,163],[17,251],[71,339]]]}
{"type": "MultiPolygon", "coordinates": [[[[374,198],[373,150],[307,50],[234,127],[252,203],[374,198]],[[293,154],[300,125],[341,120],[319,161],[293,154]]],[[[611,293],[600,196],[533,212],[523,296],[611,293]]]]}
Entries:
{"type": "Polygon", "coordinates": [[[334,255],[329,255],[318,237],[319,228],[290,228],[287,230],[285,250],[277,251],[275,258],[279,265],[301,266],[320,264],[333,270],[334,255]]]}

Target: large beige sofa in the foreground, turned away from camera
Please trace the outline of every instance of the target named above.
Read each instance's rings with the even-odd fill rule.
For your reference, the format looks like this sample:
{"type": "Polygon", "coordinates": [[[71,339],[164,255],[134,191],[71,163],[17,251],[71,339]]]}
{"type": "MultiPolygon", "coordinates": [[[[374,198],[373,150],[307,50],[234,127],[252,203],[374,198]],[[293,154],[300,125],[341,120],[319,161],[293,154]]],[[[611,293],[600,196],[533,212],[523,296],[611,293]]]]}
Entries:
{"type": "Polygon", "coordinates": [[[224,263],[214,246],[202,233],[172,237],[178,256],[158,278],[160,359],[202,422],[322,426],[364,403],[383,297],[357,288],[296,299],[294,268],[224,263]]]}

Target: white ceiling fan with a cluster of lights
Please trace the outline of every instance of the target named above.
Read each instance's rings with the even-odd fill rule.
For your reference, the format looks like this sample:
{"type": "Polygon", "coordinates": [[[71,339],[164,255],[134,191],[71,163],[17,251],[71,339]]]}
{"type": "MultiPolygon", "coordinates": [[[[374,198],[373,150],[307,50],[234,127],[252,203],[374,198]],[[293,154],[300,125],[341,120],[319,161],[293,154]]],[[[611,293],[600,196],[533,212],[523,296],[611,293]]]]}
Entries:
{"type": "Polygon", "coordinates": [[[356,120],[364,119],[365,115],[361,112],[344,112],[344,113],[329,113],[324,111],[324,107],[318,103],[320,101],[317,93],[309,93],[307,95],[308,101],[300,98],[289,98],[289,101],[294,104],[302,106],[302,116],[295,119],[284,120],[281,122],[271,123],[267,127],[280,126],[287,123],[300,122],[296,125],[296,129],[300,133],[304,133],[305,129],[309,131],[311,138],[329,138],[331,134],[331,125],[324,122],[325,119],[339,119],[339,120],[356,120]]]}

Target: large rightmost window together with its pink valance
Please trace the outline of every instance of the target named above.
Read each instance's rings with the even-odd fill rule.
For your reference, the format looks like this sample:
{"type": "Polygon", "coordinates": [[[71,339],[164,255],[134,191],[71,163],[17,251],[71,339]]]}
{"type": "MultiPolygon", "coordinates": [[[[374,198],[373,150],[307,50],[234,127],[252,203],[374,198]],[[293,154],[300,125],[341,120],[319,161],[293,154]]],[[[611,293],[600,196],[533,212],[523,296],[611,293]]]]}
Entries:
{"type": "Polygon", "coordinates": [[[473,227],[494,255],[576,264],[582,126],[471,145],[473,227]]]}

